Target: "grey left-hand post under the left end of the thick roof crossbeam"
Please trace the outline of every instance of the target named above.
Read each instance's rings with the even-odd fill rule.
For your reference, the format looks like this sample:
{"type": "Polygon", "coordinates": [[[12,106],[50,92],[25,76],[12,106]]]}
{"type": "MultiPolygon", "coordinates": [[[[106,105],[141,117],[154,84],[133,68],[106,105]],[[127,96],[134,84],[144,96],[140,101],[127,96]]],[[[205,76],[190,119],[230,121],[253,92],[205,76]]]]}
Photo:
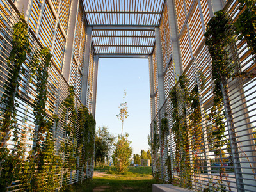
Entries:
{"type": "MultiPolygon", "coordinates": [[[[90,52],[92,47],[92,27],[87,27],[86,31],[86,44],[84,49],[84,63],[83,63],[83,80],[81,90],[81,102],[85,106],[87,97],[87,84],[88,84],[88,70],[90,63],[90,52]]],[[[99,58],[98,58],[99,60],[99,58]]]]}

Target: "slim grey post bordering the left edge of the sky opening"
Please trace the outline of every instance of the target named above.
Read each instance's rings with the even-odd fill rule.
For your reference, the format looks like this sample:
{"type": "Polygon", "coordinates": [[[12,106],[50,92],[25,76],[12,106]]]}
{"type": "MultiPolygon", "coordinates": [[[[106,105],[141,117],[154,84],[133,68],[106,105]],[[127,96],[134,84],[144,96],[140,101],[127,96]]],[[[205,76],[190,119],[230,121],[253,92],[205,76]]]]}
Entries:
{"type": "Polygon", "coordinates": [[[93,70],[93,98],[92,98],[92,115],[95,118],[96,112],[96,95],[97,95],[97,79],[98,79],[98,67],[99,67],[99,54],[94,56],[94,70],[93,70]]]}

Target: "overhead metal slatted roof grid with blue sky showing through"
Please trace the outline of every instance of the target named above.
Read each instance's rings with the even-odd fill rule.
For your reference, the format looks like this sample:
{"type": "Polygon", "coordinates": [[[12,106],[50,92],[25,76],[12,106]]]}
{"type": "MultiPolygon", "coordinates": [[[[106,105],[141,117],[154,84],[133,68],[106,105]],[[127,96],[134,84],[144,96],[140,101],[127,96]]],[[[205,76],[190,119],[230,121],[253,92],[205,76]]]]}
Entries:
{"type": "Polygon", "coordinates": [[[152,54],[164,0],[84,0],[92,43],[100,57],[152,54]]]}

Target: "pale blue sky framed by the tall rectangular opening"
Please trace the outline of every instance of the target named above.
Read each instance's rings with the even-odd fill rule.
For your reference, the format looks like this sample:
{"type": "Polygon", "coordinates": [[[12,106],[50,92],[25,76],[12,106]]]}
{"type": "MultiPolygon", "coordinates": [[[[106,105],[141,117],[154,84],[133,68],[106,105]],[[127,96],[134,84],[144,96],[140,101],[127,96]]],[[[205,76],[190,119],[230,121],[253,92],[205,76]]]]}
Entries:
{"type": "Polygon", "coordinates": [[[124,131],[129,134],[133,153],[148,150],[147,136],[150,133],[150,88],[147,59],[100,59],[97,101],[97,127],[108,126],[111,134],[121,133],[122,122],[116,115],[123,102],[128,106],[128,118],[124,120],[124,131]]]}

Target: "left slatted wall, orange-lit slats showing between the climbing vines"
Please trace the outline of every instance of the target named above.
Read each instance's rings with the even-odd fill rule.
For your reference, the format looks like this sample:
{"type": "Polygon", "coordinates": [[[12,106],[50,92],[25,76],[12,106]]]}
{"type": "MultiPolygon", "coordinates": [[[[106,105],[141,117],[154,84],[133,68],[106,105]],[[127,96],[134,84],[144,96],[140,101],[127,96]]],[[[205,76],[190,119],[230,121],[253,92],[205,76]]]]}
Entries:
{"type": "MultiPolygon", "coordinates": [[[[36,50],[41,49],[46,46],[52,53],[51,58],[51,68],[49,68],[49,77],[47,79],[47,103],[46,112],[47,120],[54,122],[54,114],[58,116],[58,123],[54,125],[50,130],[50,138],[54,141],[55,154],[63,159],[63,164],[66,163],[66,167],[61,168],[60,175],[58,175],[57,186],[60,188],[64,183],[72,184],[78,182],[79,180],[92,178],[93,176],[93,156],[89,157],[86,163],[86,170],[79,168],[79,154],[74,154],[74,158],[77,162],[74,163],[74,169],[69,170],[66,177],[65,168],[67,166],[73,166],[68,164],[67,156],[63,155],[61,152],[61,143],[65,143],[67,134],[65,131],[65,124],[71,121],[72,115],[63,116],[63,101],[67,98],[68,87],[73,86],[75,92],[75,108],[76,111],[81,106],[81,88],[82,88],[82,71],[84,65],[84,54],[85,53],[85,43],[86,43],[86,20],[83,13],[83,6],[79,4],[79,11],[77,15],[76,29],[74,32],[74,45],[72,51],[72,60],[70,63],[70,77],[69,81],[63,77],[63,65],[65,58],[65,52],[67,54],[67,35],[68,35],[68,24],[70,17],[71,1],[31,1],[33,4],[31,6],[29,20],[28,20],[28,33],[29,33],[29,47],[31,53],[27,54],[26,61],[22,64],[25,72],[21,74],[21,79],[19,81],[19,90],[17,97],[15,97],[15,102],[19,104],[17,107],[17,125],[19,126],[19,137],[22,136],[21,142],[23,142],[24,149],[26,150],[24,161],[29,156],[29,151],[33,147],[33,134],[35,130],[35,116],[33,114],[33,100],[36,99],[36,88],[37,83],[36,76],[32,76],[29,71],[29,65],[33,53],[36,50]]],[[[8,72],[7,60],[12,50],[12,34],[13,25],[18,22],[19,11],[15,8],[12,1],[3,0],[0,2],[0,95],[3,99],[4,94],[4,84],[6,83],[6,76],[8,72]]],[[[89,53],[90,56],[90,90],[93,87],[93,52],[89,53]]],[[[67,65],[67,64],[66,64],[67,65]]],[[[89,113],[92,113],[92,91],[89,93],[87,99],[87,107],[89,113]],[[89,104],[89,105],[88,105],[89,104]]],[[[3,109],[4,105],[1,104],[3,109]]],[[[3,115],[3,113],[1,113],[3,115]]],[[[0,117],[1,122],[3,116],[0,117]]],[[[76,138],[80,138],[81,132],[80,127],[77,122],[76,126],[76,138]]],[[[70,142],[70,141],[67,141],[70,142]]],[[[77,142],[72,141],[74,149],[78,150],[79,146],[77,142]]],[[[17,143],[17,142],[16,142],[17,143]]],[[[7,142],[7,147],[12,152],[15,141],[13,141],[13,131],[10,131],[10,139],[7,142]]],[[[72,143],[68,143],[72,145],[72,143]]],[[[2,159],[1,159],[2,161],[2,159]]],[[[81,166],[81,164],[80,164],[81,166]]],[[[45,176],[46,177],[46,176],[45,176]]],[[[44,180],[44,178],[42,178],[44,180]]],[[[12,186],[8,188],[8,191],[15,191],[19,189],[19,180],[13,180],[12,186]]],[[[47,186],[45,186],[47,191],[47,186]]]]}

